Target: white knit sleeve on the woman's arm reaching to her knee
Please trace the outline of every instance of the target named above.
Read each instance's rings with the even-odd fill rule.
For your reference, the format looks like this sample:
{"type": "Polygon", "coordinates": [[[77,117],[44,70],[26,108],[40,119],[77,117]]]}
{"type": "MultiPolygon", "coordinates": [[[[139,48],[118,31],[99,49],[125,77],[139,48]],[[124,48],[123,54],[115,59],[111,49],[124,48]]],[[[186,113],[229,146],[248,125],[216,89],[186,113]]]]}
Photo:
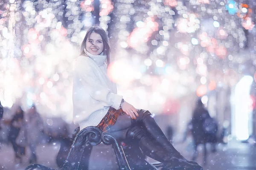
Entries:
{"type": "Polygon", "coordinates": [[[99,82],[99,77],[93,70],[92,63],[87,59],[77,59],[75,65],[75,74],[79,77],[87,93],[95,100],[102,102],[102,105],[119,109],[122,96],[114,94],[111,90],[99,82]]]}

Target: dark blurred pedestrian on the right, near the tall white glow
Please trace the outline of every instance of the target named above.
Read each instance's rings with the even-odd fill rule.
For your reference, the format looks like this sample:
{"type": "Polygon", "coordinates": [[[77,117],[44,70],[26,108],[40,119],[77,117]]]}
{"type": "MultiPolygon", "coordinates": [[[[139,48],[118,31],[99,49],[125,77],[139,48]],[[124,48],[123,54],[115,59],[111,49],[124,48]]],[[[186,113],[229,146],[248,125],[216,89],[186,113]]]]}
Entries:
{"type": "Polygon", "coordinates": [[[192,116],[192,136],[194,139],[194,154],[192,160],[198,155],[197,147],[204,144],[204,164],[207,163],[207,142],[214,143],[216,139],[217,124],[211,118],[208,111],[204,108],[201,99],[197,100],[195,110],[192,116]]]}

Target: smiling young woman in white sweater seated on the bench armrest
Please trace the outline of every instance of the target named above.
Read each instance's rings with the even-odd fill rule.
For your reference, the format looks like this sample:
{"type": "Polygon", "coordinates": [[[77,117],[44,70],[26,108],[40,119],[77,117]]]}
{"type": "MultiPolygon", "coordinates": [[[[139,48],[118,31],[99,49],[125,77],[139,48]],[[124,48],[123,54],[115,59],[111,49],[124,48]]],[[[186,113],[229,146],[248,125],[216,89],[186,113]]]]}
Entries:
{"type": "Polygon", "coordinates": [[[139,140],[143,152],[174,167],[201,170],[195,161],[185,159],[169,142],[149,111],[136,109],[116,94],[116,84],[107,75],[110,45],[106,32],[93,26],[81,44],[73,77],[73,121],[80,130],[97,126],[116,139],[139,140]]]}

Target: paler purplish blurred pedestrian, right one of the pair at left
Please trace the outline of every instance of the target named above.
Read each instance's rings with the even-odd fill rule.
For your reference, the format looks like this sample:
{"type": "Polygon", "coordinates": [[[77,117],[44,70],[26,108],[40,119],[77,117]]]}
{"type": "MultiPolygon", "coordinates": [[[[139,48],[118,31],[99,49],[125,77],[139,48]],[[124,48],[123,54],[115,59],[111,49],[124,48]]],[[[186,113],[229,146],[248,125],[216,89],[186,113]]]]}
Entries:
{"type": "Polygon", "coordinates": [[[29,158],[29,163],[36,163],[36,146],[40,142],[41,136],[44,133],[44,122],[36,111],[35,105],[29,109],[27,113],[27,125],[26,125],[26,135],[27,142],[29,144],[29,149],[31,151],[31,155],[29,158]]]}

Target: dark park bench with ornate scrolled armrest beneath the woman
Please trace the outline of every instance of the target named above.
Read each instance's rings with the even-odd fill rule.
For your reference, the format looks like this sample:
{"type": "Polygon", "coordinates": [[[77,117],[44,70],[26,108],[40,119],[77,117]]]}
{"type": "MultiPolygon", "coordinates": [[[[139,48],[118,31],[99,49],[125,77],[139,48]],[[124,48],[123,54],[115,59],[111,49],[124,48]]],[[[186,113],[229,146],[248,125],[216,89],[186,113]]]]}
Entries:
{"type": "MultiPolygon", "coordinates": [[[[129,140],[117,141],[110,134],[102,133],[98,127],[86,127],[76,135],[74,140],[72,138],[64,140],[66,144],[61,144],[56,158],[60,170],[157,170],[157,167],[162,165],[159,162],[148,163],[138,143],[129,140]],[[68,142],[73,142],[71,149],[68,142]],[[86,150],[92,150],[90,156],[86,150]]],[[[38,164],[26,168],[26,170],[34,169],[52,170],[38,164]]]]}

